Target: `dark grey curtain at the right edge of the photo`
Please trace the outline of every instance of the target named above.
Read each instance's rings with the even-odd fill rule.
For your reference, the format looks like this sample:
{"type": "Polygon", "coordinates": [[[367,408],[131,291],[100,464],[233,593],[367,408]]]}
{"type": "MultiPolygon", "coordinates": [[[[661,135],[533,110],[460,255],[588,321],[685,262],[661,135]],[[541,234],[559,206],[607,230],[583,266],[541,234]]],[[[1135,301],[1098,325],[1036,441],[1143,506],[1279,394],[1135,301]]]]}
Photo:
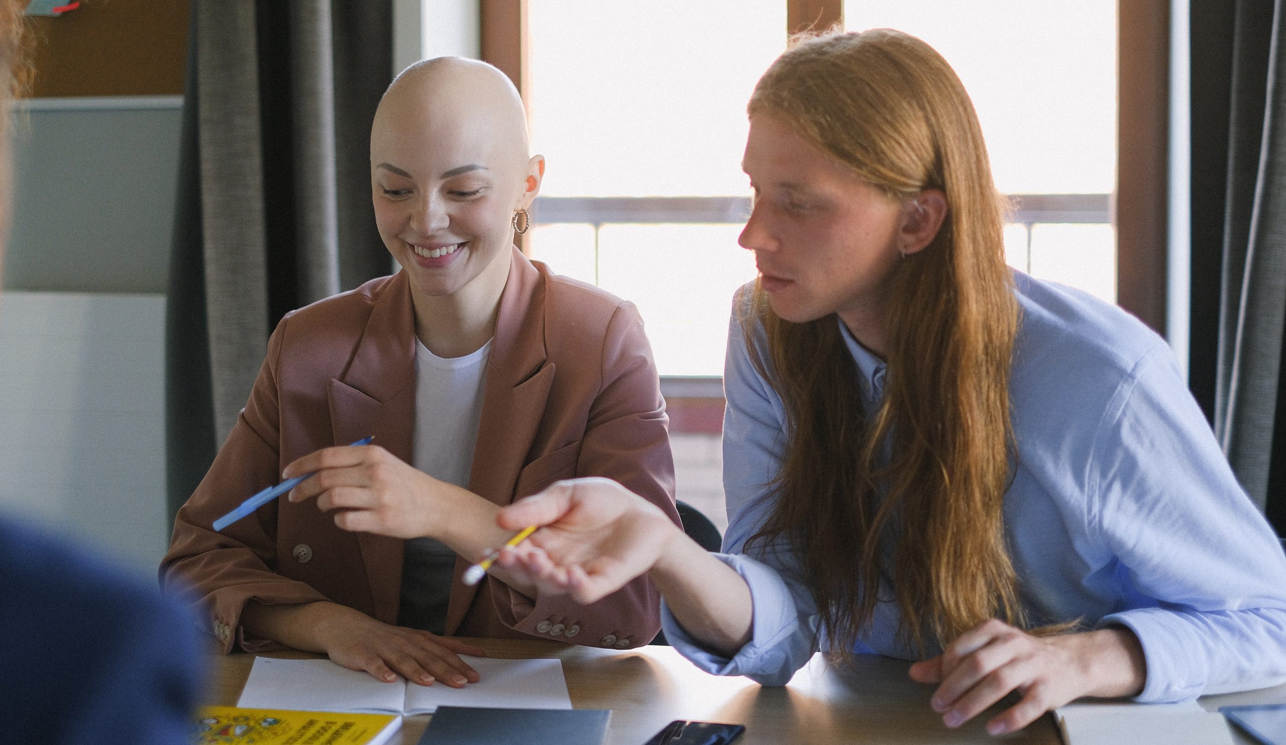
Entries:
{"type": "Polygon", "coordinates": [[[1286,21],[1281,0],[1191,12],[1191,384],[1286,534],[1286,21]]]}

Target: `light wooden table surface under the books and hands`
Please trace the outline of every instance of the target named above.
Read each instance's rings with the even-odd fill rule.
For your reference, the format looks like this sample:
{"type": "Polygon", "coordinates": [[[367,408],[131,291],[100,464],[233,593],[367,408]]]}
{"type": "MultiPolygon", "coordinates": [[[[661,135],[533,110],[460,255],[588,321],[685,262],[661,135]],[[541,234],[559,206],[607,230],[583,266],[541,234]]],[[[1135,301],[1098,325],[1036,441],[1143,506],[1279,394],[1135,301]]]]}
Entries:
{"type": "MultiPolygon", "coordinates": [[[[643,745],[671,719],[741,722],[746,724],[746,735],[737,745],[1061,744],[1049,715],[1003,737],[992,737],[984,728],[995,710],[958,730],[948,730],[928,708],[932,690],[907,677],[908,663],[889,658],[860,658],[855,669],[838,670],[815,656],[788,686],[765,688],[742,677],[709,676],[667,646],[616,651],[535,640],[469,641],[496,658],[561,659],[574,706],[612,709],[610,745],[643,745]]],[[[271,653],[266,656],[318,655],[271,653]]],[[[253,655],[248,654],[220,655],[207,701],[235,705],[253,662],[253,655]]],[[[1206,696],[1201,704],[1214,709],[1226,704],[1269,701],[1286,703],[1286,686],[1206,696]]],[[[394,744],[414,745],[427,723],[428,715],[408,717],[394,744]]],[[[1251,742],[1240,732],[1237,735],[1241,742],[1251,742]]]]}

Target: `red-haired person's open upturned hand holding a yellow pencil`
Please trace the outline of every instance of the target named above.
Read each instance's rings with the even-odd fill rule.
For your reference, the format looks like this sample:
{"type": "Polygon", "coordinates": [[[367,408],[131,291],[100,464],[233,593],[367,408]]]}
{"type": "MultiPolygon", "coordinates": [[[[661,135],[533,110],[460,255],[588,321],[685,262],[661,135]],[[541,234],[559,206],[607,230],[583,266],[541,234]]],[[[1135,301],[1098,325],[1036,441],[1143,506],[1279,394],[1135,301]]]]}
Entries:
{"type": "Polygon", "coordinates": [[[683,530],[656,505],[604,478],[570,479],[500,510],[502,528],[540,530],[496,563],[540,592],[588,605],[648,572],[683,530]]]}

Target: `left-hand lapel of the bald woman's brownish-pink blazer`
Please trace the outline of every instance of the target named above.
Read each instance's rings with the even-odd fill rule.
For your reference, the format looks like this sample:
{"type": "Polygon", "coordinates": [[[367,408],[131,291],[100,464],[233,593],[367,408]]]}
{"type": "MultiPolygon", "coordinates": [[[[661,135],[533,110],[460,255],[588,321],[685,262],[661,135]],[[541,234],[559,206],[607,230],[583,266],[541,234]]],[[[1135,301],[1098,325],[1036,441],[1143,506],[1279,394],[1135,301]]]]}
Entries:
{"type": "MultiPolygon", "coordinates": [[[[381,293],[352,362],[327,390],[334,444],[374,437],[412,462],[415,423],[415,321],[410,285],[399,272],[381,293]]],[[[396,623],[401,592],[401,538],[358,533],[374,617],[396,623]]]]}

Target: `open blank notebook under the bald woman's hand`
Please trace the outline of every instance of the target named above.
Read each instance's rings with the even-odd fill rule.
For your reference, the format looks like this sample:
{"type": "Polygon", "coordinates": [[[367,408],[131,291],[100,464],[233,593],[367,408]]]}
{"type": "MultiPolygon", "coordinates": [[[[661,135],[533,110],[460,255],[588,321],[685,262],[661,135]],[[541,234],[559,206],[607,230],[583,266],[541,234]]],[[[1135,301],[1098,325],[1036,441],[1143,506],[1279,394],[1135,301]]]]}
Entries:
{"type": "Polygon", "coordinates": [[[463,688],[421,686],[403,678],[383,683],[331,660],[256,658],[237,705],[376,714],[431,714],[441,705],[571,709],[562,660],[460,659],[481,678],[463,688]]]}

